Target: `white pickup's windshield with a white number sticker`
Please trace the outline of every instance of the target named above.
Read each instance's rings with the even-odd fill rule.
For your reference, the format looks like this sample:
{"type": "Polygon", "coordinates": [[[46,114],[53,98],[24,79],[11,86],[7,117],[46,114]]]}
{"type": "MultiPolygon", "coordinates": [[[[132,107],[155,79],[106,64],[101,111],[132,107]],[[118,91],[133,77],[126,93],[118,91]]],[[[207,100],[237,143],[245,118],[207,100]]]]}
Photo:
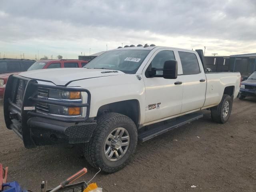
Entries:
{"type": "Polygon", "coordinates": [[[114,50],[96,57],[84,68],[103,68],[120,70],[124,73],[135,74],[150,50],[114,50]]]}

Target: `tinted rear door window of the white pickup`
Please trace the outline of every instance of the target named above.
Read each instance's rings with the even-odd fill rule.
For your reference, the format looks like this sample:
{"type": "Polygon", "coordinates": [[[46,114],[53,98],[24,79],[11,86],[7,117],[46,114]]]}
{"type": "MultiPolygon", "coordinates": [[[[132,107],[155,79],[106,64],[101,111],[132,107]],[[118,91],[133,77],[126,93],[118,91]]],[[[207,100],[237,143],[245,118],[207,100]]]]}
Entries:
{"type": "Polygon", "coordinates": [[[198,74],[200,68],[194,53],[179,51],[180,61],[184,75],[198,74]]]}

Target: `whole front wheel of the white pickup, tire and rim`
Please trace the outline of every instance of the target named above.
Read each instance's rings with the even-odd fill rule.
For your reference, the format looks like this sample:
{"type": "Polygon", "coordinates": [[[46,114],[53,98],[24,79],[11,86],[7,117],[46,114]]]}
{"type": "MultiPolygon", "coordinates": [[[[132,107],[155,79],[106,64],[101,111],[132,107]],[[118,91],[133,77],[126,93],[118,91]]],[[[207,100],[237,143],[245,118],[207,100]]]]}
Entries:
{"type": "Polygon", "coordinates": [[[134,153],[138,133],[127,116],[108,113],[97,119],[92,138],[84,146],[86,160],[95,168],[112,173],[122,169],[134,153]]]}

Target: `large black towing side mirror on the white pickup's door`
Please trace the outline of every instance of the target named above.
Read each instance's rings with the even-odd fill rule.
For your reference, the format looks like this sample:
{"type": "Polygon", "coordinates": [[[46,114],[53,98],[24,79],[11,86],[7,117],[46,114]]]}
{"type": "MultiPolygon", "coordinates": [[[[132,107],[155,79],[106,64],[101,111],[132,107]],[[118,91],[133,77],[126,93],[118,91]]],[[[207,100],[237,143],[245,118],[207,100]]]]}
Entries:
{"type": "Polygon", "coordinates": [[[164,68],[151,68],[147,70],[146,77],[163,77],[165,79],[176,79],[178,76],[178,62],[176,60],[167,60],[164,62],[164,68]]]}

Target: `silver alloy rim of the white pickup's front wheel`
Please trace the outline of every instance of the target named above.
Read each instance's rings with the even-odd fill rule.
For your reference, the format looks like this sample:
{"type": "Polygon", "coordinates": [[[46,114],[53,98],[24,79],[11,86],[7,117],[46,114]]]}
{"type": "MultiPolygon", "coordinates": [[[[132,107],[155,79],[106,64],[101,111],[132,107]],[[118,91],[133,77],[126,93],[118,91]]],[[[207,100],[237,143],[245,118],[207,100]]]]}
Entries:
{"type": "Polygon", "coordinates": [[[104,154],[110,161],[121,159],[128,150],[130,143],[129,133],[125,128],[114,129],[106,138],[104,154]]]}

